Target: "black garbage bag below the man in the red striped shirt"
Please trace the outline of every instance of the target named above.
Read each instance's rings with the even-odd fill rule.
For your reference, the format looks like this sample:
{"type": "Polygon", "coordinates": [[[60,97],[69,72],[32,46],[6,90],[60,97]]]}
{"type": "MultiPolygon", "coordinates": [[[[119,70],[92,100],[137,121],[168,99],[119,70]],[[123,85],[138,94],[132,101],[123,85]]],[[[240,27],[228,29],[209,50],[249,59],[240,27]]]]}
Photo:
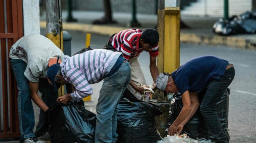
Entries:
{"type": "Polygon", "coordinates": [[[148,102],[131,102],[122,97],[118,103],[117,143],[156,143],[161,136],[154,127],[154,117],[161,109],[148,102]]]}

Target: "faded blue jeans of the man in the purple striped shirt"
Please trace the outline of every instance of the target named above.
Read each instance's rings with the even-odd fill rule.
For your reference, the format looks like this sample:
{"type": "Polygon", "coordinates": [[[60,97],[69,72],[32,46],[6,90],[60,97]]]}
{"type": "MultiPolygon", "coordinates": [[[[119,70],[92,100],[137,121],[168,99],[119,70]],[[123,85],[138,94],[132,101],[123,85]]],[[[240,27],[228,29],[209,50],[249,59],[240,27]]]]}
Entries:
{"type": "Polygon", "coordinates": [[[95,143],[117,141],[117,104],[131,80],[131,67],[124,62],[116,73],[104,78],[97,103],[95,143]]]}

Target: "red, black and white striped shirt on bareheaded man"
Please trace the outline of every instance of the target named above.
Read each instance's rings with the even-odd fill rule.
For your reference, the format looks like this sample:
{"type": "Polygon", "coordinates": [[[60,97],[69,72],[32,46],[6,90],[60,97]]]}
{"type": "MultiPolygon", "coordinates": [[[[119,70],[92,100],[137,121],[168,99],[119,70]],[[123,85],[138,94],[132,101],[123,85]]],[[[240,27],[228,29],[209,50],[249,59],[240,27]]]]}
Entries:
{"type": "MultiPolygon", "coordinates": [[[[128,29],[116,33],[109,42],[116,49],[116,51],[122,52],[126,59],[131,59],[143,52],[143,48],[139,47],[140,36],[143,30],[140,29],[128,29]]],[[[158,56],[158,45],[152,48],[150,56],[158,56]]]]}

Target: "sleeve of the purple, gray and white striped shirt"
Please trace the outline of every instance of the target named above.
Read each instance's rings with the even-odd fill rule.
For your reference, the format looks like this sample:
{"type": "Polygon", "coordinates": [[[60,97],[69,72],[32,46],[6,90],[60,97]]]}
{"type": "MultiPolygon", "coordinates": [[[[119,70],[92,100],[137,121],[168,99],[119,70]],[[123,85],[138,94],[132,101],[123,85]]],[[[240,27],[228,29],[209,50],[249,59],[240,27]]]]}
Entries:
{"type": "Polygon", "coordinates": [[[76,89],[74,93],[70,94],[73,99],[83,99],[84,97],[93,94],[91,85],[79,68],[70,68],[66,70],[66,77],[71,80],[76,89]]]}

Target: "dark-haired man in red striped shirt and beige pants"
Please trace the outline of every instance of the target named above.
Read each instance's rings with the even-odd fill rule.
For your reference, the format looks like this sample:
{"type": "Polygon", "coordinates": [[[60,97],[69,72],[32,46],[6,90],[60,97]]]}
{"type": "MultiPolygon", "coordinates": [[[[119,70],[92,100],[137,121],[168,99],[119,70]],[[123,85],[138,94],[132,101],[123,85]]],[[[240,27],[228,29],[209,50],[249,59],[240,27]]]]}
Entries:
{"type": "MultiPolygon", "coordinates": [[[[147,85],[147,83],[137,58],[141,52],[149,52],[150,73],[155,82],[156,77],[159,75],[156,66],[156,57],[159,52],[158,42],[159,33],[155,29],[145,29],[144,31],[140,29],[127,29],[112,35],[104,46],[104,49],[122,52],[123,56],[129,60],[131,65],[131,82],[127,89],[140,100],[143,100],[141,96],[143,88],[138,86],[138,84],[147,85]]],[[[148,101],[148,99],[144,99],[144,101],[148,101]]]]}

